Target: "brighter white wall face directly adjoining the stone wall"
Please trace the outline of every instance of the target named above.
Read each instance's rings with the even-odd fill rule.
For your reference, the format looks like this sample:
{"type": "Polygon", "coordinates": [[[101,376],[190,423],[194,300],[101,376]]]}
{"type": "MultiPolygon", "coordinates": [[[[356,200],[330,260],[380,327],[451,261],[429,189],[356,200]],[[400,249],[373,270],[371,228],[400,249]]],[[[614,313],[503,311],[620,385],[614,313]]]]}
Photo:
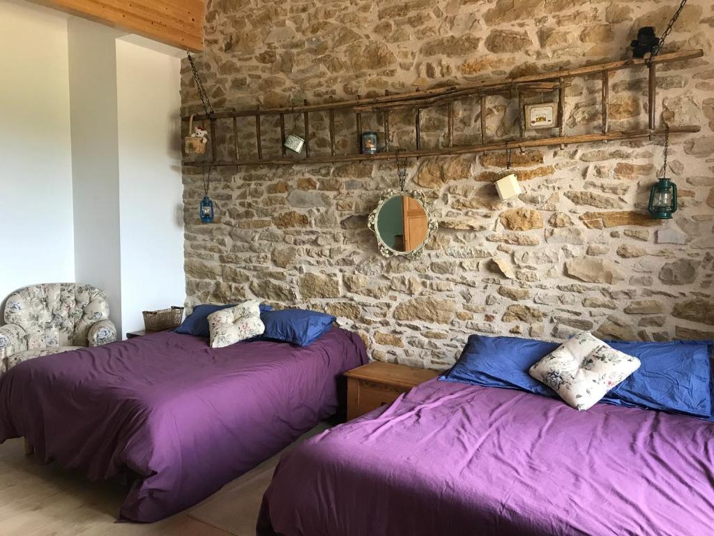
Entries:
{"type": "Polygon", "coordinates": [[[142,311],[181,305],[186,296],[181,60],[147,48],[136,37],[131,41],[116,41],[124,332],[144,329],[142,311]]]}

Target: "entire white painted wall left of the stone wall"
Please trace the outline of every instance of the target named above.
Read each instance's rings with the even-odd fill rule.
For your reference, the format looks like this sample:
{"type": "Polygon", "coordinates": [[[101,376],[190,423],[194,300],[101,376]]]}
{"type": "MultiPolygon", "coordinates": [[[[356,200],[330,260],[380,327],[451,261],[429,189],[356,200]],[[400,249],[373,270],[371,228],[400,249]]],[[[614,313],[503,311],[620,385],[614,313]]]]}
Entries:
{"type": "Polygon", "coordinates": [[[143,329],[185,298],[183,53],[18,0],[0,0],[0,44],[0,303],[89,283],[121,334],[143,329]]]}

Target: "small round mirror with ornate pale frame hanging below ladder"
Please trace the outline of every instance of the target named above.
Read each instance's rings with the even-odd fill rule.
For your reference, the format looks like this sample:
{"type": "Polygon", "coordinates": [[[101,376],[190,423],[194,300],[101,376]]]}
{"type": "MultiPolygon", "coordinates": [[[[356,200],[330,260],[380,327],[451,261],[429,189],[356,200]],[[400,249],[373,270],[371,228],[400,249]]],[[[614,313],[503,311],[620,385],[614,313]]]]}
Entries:
{"type": "Polygon", "coordinates": [[[376,234],[385,257],[416,257],[438,226],[421,192],[388,190],[369,216],[368,226],[376,234]]]}

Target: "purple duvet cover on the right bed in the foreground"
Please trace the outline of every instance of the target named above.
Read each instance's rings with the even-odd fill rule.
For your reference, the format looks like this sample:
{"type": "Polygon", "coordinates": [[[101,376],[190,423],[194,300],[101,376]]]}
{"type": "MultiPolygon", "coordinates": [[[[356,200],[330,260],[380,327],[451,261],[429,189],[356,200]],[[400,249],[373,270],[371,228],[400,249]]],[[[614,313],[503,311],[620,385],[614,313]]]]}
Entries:
{"type": "Polygon", "coordinates": [[[714,424],[432,380],[284,455],[258,535],[714,534],[714,424]]]}

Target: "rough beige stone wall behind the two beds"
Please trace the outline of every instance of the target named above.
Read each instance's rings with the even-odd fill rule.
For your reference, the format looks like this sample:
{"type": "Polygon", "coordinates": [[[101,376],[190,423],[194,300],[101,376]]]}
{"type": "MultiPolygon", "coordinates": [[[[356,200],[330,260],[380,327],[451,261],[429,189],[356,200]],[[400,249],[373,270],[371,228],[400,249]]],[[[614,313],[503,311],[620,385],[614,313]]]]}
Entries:
{"type": "MultiPolygon", "coordinates": [[[[196,60],[216,108],[349,99],[622,59],[640,26],[663,29],[678,4],[208,0],[206,51],[196,60]]],[[[714,337],[713,26],[711,2],[691,0],[668,49],[703,48],[705,56],[659,69],[658,121],[702,127],[671,140],[680,210],[670,222],[646,211],[662,140],[515,152],[526,193],[510,202],[491,184],[505,166],[502,152],[410,162],[408,187],[425,191],[440,222],[415,261],[381,257],[366,228],[380,192],[396,187],[392,162],[219,169],[212,225],[197,223],[201,171],[186,168],[189,300],[254,296],[324,310],[360,332],[374,358],[426,367],[451,364],[473,332],[714,337]]],[[[646,85],[643,69],[613,76],[611,128],[646,126],[646,85]]],[[[599,95],[599,79],[573,81],[567,133],[600,128],[599,95]]],[[[185,61],[182,96],[184,112],[198,111],[185,61]]],[[[489,99],[488,135],[516,134],[517,114],[489,99]]],[[[444,118],[423,113],[423,147],[443,144],[444,118]]],[[[244,156],[255,152],[251,121],[238,139],[244,156]]],[[[326,124],[311,121],[316,132],[326,124]]],[[[376,116],[364,121],[380,128],[376,116]]],[[[478,142],[479,121],[477,105],[458,104],[456,142],[478,142]]],[[[393,147],[413,147],[411,116],[391,122],[393,147]]],[[[353,151],[353,117],[337,124],[338,150],[353,151]]],[[[219,124],[221,154],[233,147],[229,132],[219,124]]],[[[263,143],[276,140],[277,125],[264,124],[263,143]]],[[[326,135],[312,147],[328,152],[326,135]]]]}

